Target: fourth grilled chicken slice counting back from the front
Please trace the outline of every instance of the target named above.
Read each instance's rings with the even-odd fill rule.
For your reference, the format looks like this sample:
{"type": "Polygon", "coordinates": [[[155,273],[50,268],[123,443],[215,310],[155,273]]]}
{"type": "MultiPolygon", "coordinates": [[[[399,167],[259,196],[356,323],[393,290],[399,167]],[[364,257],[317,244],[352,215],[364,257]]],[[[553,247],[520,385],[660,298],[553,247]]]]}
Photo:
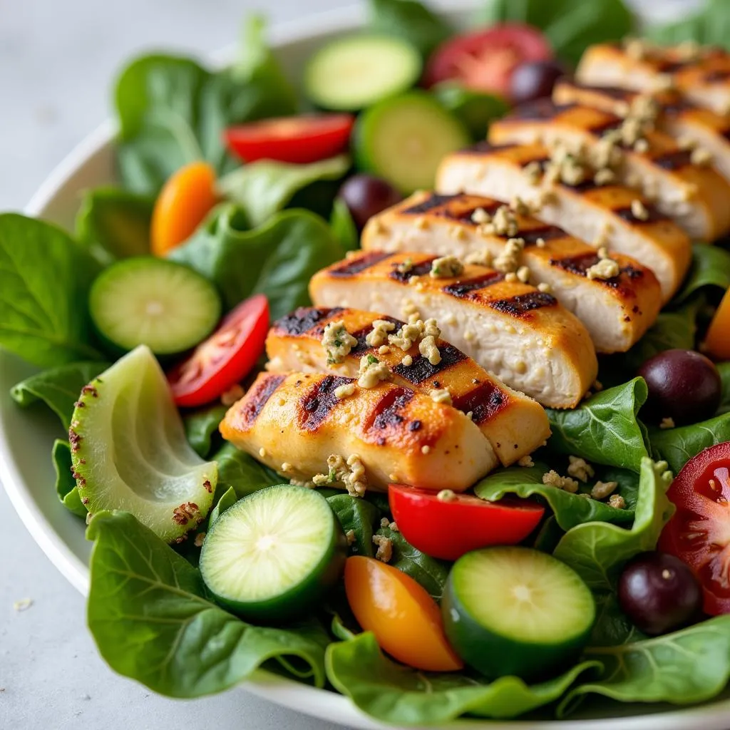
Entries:
{"type": "Polygon", "coordinates": [[[558,301],[583,322],[599,352],[626,352],[656,321],[662,297],[651,269],[613,254],[615,272],[598,276],[595,267],[601,258],[596,249],[561,228],[510,212],[515,226],[512,236],[496,234],[493,224],[484,221],[500,208],[507,210],[502,201],[466,193],[415,193],[371,218],[362,246],[458,258],[486,251],[488,258],[498,261],[507,240],[518,239],[524,242],[519,265],[529,268],[531,282],[550,286],[558,301]]]}

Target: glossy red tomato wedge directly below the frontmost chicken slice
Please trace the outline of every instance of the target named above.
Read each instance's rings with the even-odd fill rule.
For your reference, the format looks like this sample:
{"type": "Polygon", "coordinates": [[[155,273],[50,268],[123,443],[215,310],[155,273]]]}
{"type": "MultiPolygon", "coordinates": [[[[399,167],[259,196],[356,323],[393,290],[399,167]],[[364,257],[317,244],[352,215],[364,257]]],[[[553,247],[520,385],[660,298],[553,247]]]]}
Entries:
{"type": "Polygon", "coordinates": [[[432,558],[458,560],[488,545],[516,545],[533,531],[545,507],[529,499],[485,502],[471,494],[449,495],[402,484],[388,487],[393,520],[403,537],[432,558]]]}

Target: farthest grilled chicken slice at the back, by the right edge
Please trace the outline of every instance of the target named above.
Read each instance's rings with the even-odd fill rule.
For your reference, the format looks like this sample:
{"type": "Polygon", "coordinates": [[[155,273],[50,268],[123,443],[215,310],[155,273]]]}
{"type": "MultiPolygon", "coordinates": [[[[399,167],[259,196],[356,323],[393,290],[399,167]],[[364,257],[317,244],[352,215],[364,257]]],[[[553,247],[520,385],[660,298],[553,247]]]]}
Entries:
{"type": "Polygon", "coordinates": [[[730,112],[730,54],[721,48],[657,47],[643,41],[594,45],[575,75],[583,84],[636,91],[671,86],[701,107],[730,112]]]}

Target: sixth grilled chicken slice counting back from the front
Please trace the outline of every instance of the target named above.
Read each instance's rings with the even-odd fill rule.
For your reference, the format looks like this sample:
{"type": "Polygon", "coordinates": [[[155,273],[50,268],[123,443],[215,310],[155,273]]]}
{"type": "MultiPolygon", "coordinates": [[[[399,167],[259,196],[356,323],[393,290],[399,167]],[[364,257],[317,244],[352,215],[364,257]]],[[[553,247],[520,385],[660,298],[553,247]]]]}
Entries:
{"type": "MultiPolygon", "coordinates": [[[[562,144],[576,153],[581,148],[590,152],[623,123],[621,117],[591,107],[542,100],[493,123],[489,141],[562,144]]],[[[692,151],[667,134],[648,131],[643,140],[646,152],[637,151],[638,145],[621,147],[621,160],[613,169],[618,182],[642,190],[691,237],[712,241],[730,231],[730,183],[712,166],[692,164],[692,151]]]]}

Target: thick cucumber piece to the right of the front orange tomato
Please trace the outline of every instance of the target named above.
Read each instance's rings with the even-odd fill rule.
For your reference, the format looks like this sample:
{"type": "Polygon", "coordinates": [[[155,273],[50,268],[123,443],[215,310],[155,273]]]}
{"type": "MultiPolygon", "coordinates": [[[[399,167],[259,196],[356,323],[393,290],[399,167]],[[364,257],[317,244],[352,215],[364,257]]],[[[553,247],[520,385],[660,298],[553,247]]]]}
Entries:
{"type": "Polygon", "coordinates": [[[459,656],[490,679],[544,676],[574,660],[596,618],[577,573],[529,548],[485,548],[459,558],[442,602],[459,656]]]}

